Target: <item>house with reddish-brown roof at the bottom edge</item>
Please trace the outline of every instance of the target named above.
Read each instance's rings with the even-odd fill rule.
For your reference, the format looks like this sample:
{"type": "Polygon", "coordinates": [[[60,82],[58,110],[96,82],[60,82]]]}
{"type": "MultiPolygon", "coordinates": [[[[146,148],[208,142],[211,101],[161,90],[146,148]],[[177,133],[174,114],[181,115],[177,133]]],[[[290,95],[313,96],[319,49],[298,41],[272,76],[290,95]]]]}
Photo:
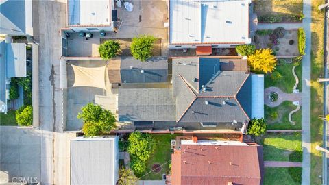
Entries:
{"type": "MultiPolygon", "coordinates": [[[[194,139],[193,139],[194,140],[194,139]]],[[[239,141],[181,140],[167,184],[263,184],[263,147],[239,141]]]]}

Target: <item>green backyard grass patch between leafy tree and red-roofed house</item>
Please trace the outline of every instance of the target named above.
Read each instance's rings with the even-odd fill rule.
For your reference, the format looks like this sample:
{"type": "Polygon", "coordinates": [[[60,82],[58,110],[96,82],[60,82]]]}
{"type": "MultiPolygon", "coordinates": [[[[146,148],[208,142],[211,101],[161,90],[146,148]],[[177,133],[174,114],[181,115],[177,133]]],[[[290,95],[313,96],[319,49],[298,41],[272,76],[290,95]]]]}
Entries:
{"type": "Polygon", "coordinates": [[[162,180],[162,174],[169,173],[169,164],[171,164],[171,149],[170,141],[175,139],[177,135],[173,134],[153,134],[156,140],[156,151],[147,161],[147,168],[143,175],[141,175],[141,180],[162,180]],[[167,164],[164,164],[166,163],[167,164]],[[164,164],[159,173],[151,172],[153,164],[164,164]],[[148,173],[148,174],[147,174],[148,173]],[[147,175],[146,175],[147,174],[147,175]]]}

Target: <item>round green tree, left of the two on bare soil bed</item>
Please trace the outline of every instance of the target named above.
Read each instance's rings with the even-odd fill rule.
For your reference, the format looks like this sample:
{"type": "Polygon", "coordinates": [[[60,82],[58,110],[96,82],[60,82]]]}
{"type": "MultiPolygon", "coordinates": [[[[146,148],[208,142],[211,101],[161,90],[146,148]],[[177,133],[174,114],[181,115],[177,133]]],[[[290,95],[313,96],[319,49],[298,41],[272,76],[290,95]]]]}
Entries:
{"type": "Polygon", "coordinates": [[[120,51],[119,42],[114,40],[106,40],[105,42],[103,42],[103,44],[99,45],[98,51],[101,55],[101,58],[103,58],[104,60],[114,58],[120,51]]]}

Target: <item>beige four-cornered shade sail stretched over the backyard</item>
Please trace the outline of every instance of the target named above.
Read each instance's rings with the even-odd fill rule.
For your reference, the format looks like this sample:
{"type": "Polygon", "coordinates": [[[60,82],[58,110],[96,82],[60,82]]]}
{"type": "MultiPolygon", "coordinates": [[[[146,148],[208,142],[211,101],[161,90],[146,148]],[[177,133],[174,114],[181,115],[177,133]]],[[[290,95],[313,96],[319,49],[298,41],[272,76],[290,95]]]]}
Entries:
{"type": "Polygon", "coordinates": [[[82,67],[70,64],[74,71],[73,87],[88,86],[106,89],[106,65],[101,67],[82,67]]]}

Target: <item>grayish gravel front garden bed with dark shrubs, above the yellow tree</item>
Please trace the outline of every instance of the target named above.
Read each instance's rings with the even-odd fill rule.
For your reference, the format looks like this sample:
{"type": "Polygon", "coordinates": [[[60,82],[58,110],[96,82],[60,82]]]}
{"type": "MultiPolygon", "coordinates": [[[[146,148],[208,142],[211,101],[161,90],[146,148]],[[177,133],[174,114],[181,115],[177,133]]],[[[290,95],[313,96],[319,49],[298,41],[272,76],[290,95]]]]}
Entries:
{"type": "Polygon", "coordinates": [[[256,49],[271,48],[276,56],[300,56],[297,30],[285,30],[282,38],[271,39],[273,30],[258,30],[254,36],[256,49]]]}

